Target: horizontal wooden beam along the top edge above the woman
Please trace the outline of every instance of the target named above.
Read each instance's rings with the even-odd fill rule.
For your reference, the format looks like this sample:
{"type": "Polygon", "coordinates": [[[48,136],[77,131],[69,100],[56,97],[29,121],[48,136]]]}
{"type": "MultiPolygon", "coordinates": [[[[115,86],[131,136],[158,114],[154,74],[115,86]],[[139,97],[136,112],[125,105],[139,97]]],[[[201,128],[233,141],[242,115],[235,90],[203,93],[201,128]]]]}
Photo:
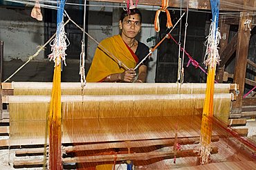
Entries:
{"type": "MultiPolygon", "coordinates": [[[[89,1],[99,1],[99,2],[113,2],[113,3],[126,3],[124,0],[89,0],[89,1]]],[[[138,4],[146,6],[161,6],[161,0],[140,0],[138,4]]],[[[187,8],[188,0],[172,0],[169,1],[169,6],[172,8],[187,8]],[[180,3],[181,2],[181,3],[180,3]]],[[[244,0],[221,0],[219,10],[225,11],[241,11],[243,10],[244,0]]],[[[210,10],[209,0],[197,0],[189,1],[189,8],[199,9],[199,10],[210,10]]],[[[248,7],[249,9],[251,7],[248,7]]],[[[250,11],[250,10],[248,10],[250,11]]],[[[251,10],[252,11],[252,10],[251,10]]]]}

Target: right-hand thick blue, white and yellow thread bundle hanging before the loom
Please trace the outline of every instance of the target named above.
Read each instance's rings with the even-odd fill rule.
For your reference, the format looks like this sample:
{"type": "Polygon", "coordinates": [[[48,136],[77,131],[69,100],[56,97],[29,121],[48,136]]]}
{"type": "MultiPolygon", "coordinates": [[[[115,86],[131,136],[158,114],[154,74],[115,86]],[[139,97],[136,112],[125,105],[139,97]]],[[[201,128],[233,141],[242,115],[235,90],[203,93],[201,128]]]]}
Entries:
{"type": "Polygon", "coordinates": [[[205,101],[203,104],[203,115],[201,122],[201,138],[199,154],[201,164],[208,164],[210,158],[210,142],[212,138],[212,115],[213,115],[213,95],[214,95],[214,75],[217,63],[219,62],[219,0],[210,0],[212,7],[212,23],[207,40],[207,49],[205,53],[205,65],[208,66],[207,86],[205,92],[205,101]]]}

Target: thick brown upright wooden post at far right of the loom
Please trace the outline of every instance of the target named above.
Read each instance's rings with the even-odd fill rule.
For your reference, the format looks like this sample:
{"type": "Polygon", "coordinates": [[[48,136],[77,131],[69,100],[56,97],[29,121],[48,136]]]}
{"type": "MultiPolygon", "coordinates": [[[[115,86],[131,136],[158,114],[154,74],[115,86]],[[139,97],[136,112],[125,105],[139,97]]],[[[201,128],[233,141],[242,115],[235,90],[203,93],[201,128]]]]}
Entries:
{"type": "Polygon", "coordinates": [[[248,49],[250,42],[250,30],[244,23],[246,19],[252,20],[251,16],[246,15],[246,12],[240,13],[237,53],[235,59],[235,74],[234,83],[239,84],[239,95],[237,100],[233,102],[232,113],[241,113],[242,100],[244,95],[244,83],[246,78],[246,65],[248,58],[248,49]]]}

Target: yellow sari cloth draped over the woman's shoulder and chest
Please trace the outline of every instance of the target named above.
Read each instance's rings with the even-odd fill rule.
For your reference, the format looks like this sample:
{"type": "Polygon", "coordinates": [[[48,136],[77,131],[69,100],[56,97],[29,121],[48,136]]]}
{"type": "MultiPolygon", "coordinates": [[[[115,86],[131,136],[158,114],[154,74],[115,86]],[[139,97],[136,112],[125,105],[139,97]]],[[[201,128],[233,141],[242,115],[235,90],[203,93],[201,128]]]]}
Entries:
{"type": "MultiPolygon", "coordinates": [[[[134,68],[136,66],[138,57],[125,44],[125,41],[122,40],[120,35],[104,39],[100,44],[128,68],[134,68]]],[[[113,57],[104,48],[98,46],[95,50],[93,62],[86,76],[86,82],[102,82],[108,75],[125,71],[125,68],[120,67],[118,61],[114,61],[113,57]]]]}

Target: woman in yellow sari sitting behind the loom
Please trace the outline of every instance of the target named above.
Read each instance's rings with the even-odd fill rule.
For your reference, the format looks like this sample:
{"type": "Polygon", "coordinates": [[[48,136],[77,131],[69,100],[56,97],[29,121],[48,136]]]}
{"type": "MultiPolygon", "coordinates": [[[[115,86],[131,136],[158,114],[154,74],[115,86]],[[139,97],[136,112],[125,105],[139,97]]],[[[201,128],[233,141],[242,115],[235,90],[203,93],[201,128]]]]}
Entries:
{"type": "Polygon", "coordinates": [[[145,82],[147,60],[138,67],[138,76],[133,69],[149,53],[149,48],[135,39],[140,32],[141,21],[141,13],[137,8],[131,9],[129,14],[122,12],[119,21],[120,35],[100,42],[86,82],[145,82]],[[129,69],[123,68],[117,60],[129,69]]]}

